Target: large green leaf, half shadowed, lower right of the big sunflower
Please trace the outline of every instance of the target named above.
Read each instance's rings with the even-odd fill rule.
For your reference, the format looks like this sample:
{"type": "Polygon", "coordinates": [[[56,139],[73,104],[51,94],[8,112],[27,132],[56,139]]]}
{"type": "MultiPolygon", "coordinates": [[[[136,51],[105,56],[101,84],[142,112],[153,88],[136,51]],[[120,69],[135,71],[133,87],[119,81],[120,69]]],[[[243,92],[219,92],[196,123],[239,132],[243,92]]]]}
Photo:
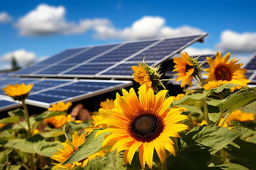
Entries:
{"type": "Polygon", "coordinates": [[[241,133],[217,126],[197,126],[180,139],[180,151],[169,156],[169,169],[205,169],[212,156],[241,133]]]}

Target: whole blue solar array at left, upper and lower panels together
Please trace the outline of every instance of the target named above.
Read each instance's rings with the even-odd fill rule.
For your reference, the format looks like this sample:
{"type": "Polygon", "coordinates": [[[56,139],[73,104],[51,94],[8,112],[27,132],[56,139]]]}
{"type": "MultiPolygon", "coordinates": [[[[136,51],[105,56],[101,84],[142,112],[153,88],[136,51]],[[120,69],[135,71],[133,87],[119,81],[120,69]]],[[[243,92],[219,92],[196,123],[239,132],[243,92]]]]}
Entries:
{"type": "MultiPolygon", "coordinates": [[[[79,101],[117,88],[131,86],[133,83],[131,81],[110,79],[132,79],[131,66],[138,65],[143,58],[151,66],[163,63],[187,46],[201,41],[206,35],[207,33],[200,33],[192,36],[66,49],[35,65],[2,76],[0,88],[6,87],[7,84],[34,84],[26,103],[43,108],[49,108],[59,101],[79,101]],[[15,76],[24,78],[15,78],[15,76]],[[49,78],[44,79],[45,77],[49,78]],[[87,80],[64,78],[87,78],[87,80]],[[88,78],[108,80],[88,80],[88,78]]],[[[20,104],[1,91],[0,111],[7,109],[8,106],[13,108],[19,107],[20,104]]]]}

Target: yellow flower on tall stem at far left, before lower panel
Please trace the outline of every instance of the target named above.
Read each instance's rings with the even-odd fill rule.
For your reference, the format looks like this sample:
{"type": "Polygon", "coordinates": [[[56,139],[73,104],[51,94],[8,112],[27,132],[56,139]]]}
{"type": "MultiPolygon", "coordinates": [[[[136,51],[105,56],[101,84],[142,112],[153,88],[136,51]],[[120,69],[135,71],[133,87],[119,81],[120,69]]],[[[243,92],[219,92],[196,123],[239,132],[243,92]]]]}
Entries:
{"type": "Polygon", "coordinates": [[[21,85],[15,84],[15,86],[12,86],[10,84],[7,85],[6,88],[2,88],[3,91],[5,91],[5,94],[13,97],[14,100],[24,100],[28,97],[28,92],[31,90],[34,84],[27,84],[27,86],[22,83],[21,85]]]}

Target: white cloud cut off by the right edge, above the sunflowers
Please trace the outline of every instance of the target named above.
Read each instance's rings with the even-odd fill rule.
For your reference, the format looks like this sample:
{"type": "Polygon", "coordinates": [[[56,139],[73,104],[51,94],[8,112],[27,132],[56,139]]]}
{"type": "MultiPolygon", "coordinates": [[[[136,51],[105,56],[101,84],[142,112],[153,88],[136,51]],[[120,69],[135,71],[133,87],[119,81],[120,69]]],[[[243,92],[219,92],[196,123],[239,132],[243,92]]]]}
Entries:
{"type": "Polygon", "coordinates": [[[237,33],[225,30],[221,33],[221,42],[216,45],[217,49],[227,52],[255,52],[256,32],[237,33]]]}

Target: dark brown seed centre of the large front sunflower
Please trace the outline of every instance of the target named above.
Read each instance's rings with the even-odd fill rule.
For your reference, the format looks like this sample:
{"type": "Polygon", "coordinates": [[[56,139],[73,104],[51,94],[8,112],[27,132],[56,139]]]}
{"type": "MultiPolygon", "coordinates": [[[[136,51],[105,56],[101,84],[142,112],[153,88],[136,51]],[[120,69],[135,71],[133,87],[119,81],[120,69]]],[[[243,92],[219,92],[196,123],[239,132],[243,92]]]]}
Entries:
{"type": "Polygon", "coordinates": [[[164,120],[158,113],[141,111],[131,117],[127,131],[136,141],[151,142],[159,137],[164,126],[164,120]]]}

